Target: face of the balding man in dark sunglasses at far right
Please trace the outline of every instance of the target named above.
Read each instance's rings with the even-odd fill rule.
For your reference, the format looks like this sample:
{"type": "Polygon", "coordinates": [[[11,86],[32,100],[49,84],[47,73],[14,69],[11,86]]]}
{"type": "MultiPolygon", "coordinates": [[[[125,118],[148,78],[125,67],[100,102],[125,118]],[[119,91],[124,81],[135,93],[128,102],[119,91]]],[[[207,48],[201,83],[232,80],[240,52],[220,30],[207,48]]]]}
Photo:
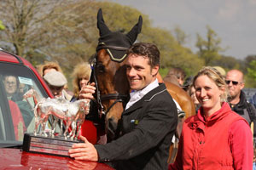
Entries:
{"type": "Polygon", "coordinates": [[[244,88],[244,83],[242,82],[241,74],[236,71],[228,72],[225,81],[229,88],[231,99],[239,97],[241,89],[244,88]]]}

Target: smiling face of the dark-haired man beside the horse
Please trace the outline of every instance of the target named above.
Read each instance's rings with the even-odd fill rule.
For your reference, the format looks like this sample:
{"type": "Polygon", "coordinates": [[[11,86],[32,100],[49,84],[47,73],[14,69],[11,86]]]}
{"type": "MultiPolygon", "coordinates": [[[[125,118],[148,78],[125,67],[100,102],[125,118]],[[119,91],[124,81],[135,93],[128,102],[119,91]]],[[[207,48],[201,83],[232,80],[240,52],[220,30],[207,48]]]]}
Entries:
{"type": "Polygon", "coordinates": [[[141,90],[154,82],[159,66],[151,66],[148,64],[148,57],[129,54],[126,59],[126,76],[132,90],[141,90]]]}

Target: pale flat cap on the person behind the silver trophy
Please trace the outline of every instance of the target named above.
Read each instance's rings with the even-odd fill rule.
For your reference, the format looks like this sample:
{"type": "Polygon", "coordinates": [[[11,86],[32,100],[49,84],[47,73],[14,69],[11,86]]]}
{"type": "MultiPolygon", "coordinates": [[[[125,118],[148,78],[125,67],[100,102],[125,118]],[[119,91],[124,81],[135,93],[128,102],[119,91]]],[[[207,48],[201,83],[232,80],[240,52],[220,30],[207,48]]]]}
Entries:
{"type": "Polygon", "coordinates": [[[44,80],[51,86],[62,87],[67,84],[67,79],[60,71],[49,71],[44,75],[44,80]]]}

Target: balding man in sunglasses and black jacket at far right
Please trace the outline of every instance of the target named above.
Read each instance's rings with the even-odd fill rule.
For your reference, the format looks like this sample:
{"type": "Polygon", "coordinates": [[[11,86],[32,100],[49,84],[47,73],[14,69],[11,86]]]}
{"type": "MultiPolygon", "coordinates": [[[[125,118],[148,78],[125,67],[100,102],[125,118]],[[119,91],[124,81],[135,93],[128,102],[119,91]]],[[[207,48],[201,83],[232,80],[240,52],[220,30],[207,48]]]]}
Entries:
{"type": "Polygon", "coordinates": [[[254,117],[256,110],[253,105],[247,102],[246,94],[242,91],[245,85],[242,72],[238,70],[228,71],[225,81],[229,88],[229,103],[232,111],[244,117],[250,125],[253,122],[253,137],[255,138],[256,124],[254,117]]]}

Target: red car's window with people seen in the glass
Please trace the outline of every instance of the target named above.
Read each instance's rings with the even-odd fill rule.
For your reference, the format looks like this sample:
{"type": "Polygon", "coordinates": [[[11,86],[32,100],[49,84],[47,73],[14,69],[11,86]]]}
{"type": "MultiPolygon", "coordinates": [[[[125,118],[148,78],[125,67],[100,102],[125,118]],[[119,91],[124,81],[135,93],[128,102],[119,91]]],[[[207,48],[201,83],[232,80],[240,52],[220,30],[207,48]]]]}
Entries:
{"type": "Polygon", "coordinates": [[[21,144],[33,133],[33,108],[47,98],[35,74],[25,65],[0,62],[0,147],[21,144]]]}

